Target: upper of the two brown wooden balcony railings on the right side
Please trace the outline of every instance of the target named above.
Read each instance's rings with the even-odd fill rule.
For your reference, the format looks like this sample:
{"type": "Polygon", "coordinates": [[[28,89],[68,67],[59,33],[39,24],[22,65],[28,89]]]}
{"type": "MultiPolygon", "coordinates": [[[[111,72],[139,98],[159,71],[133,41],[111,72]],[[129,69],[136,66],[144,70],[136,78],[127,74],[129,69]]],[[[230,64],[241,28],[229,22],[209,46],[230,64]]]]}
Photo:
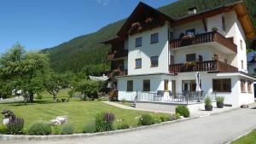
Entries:
{"type": "Polygon", "coordinates": [[[235,43],[232,43],[229,38],[224,37],[218,32],[206,32],[202,34],[195,35],[194,37],[183,37],[170,41],[171,49],[180,48],[183,46],[201,44],[201,43],[210,43],[217,42],[224,45],[226,48],[237,53],[237,46],[235,43]]]}

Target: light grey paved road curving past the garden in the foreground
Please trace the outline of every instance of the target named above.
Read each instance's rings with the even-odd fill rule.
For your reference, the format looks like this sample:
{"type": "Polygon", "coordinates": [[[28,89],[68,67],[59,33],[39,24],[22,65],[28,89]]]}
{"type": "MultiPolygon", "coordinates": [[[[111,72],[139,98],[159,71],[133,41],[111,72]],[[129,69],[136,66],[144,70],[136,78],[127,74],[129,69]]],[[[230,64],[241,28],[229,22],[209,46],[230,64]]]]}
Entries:
{"type": "Polygon", "coordinates": [[[222,144],[256,127],[256,109],[238,109],[154,129],[61,141],[0,141],[6,144],[222,144]]]}

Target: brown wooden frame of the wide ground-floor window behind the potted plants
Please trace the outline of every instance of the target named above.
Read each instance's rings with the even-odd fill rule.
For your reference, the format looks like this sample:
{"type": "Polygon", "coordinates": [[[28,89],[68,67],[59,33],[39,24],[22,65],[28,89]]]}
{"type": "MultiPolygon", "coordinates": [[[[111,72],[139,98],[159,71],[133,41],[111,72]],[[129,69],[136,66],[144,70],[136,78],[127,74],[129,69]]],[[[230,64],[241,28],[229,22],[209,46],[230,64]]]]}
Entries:
{"type": "Polygon", "coordinates": [[[218,79],[212,79],[212,91],[213,92],[227,92],[230,93],[232,92],[232,81],[231,78],[218,78],[218,79]],[[217,84],[214,84],[214,82],[217,82],[217,84]],[[229,88],[224,89],[224,84],[226,82],[229,82],[229,88]],[[220,86],[220,89],[217,89],[218,87],[215,88],[215,85],[220,86]]]}

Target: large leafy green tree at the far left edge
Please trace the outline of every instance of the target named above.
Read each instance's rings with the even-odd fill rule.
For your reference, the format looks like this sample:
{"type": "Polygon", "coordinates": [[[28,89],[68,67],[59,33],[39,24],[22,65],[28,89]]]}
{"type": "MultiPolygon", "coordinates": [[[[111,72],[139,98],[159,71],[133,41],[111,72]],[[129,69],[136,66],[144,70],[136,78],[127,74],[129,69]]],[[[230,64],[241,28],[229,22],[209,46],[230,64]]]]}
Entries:
{"type": "Polygon", "coordinates": [[[40,53],[26,53],[25,49],[16,43],[12,49],[0,58],[0,78],[4,83],[2,89],[23,92],[24,103],[33,101],[33,95],[44,89],[43,80],[49,71],[49,60],[40,53]]]}

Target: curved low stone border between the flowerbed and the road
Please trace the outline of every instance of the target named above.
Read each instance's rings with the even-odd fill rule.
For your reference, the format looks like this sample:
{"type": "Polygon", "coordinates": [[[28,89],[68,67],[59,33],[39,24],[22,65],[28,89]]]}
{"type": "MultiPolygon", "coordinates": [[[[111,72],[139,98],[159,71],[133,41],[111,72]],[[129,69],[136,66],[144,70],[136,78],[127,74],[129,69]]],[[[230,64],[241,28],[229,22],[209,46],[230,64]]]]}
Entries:
{"type": "Polygon", "coordinates": [[[15,141],[15,140],[62,140],[62,139],[73,139],[79,137],[94,137],[94,136],[102,136],[102,135],[115,135],[115,134],[122,134],[131,131],[137,130],[146,130],[150,128],[160,127],[163,125],[168,124],[176,124],[183,121],[188,121],[191,119],[200,118],[200,117],[191,117],[191,118],[182,118],[173,121],[163,122],[160,124],[152,124],[147,126],[139,126],[137,128],[125,129],[125,130],[113,130],[113,131],[106,131],[106,132],[98,132],[98,133],[86,133],[86,134],[73,134],[73,135],[0,135],[0,141],[15,141]]]}

